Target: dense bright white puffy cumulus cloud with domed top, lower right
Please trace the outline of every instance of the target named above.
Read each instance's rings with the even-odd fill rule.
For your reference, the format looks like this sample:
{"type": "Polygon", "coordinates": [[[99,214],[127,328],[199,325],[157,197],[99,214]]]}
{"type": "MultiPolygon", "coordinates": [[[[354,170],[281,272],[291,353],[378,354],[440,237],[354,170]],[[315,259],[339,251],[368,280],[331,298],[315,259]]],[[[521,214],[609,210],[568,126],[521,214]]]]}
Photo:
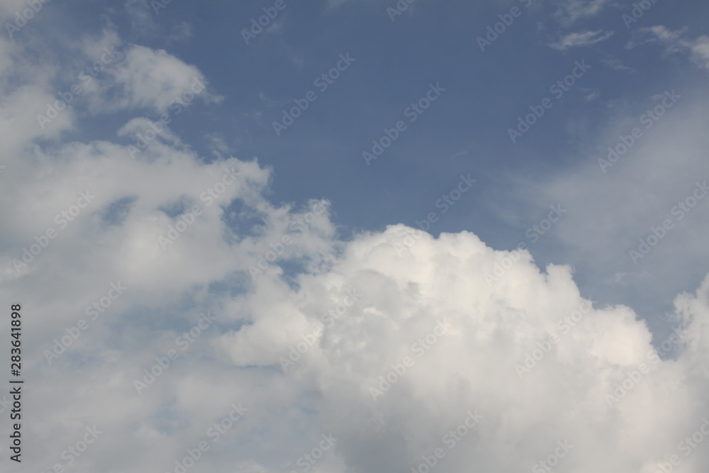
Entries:
{"type": "MultiPolygon", "coordinates": [[[[567,471],[655,471],[652,465],[680,454],[677,445],[700,428],[708,407],[707,350],[699,340],[706,336],[709,280],[696,296],[678,298],[685,328],[664,345],[684,340],[694,348],[660,361],[629,308],[589,310],[569,267],[544,273],[522,258],[489,287],[484,275],[505,252],[471,233],[418,236],[406,250],[396,247],[413,231],[392,226],[362,235],[330,272],[303,277],[301,294],[292,296],[295,306],[318,294],[315,310],[292,316],[303,320],[306,340],[313,332],[306,321],[322,321],[347,288],[361,294],[339,321],[323,324],[302,360],[281,361],[303,389],[316,386],[321,422],[340,434],[340,455],[353,471],[403,472],[436,447],[448,452],[445,435],[469,410],[483,420],[437,471],[531,469],[558,440],[574,445],[559,460],[567,471]],[[430,336],[440,321],[450,328],[430,336]],[[528,361],[529,370],[527,354],[542,357],[528,361]],[[406,357],[413,363],[403,369],[406,357]]],[[[270,343],[249,348],[273,352],[280,344],[286,355],[289,343],[279,335],[274,330],[270,343]]],[[[242,363],[257,359],[263,357],[242,363]]],[[[705,464],[703,451],[691,450],[685,464],[705,464]]]]}

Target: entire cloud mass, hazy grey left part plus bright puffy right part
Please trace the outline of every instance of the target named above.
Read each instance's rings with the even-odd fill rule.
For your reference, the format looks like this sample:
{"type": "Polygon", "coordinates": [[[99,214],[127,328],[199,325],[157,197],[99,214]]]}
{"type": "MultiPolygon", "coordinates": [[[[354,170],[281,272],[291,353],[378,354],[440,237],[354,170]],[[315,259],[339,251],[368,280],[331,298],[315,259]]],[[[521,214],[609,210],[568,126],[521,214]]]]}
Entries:
{"type": "MultiPolygon", "coordinates": [[[[162,111],[169,96],[146,84],[199,73],[129,51],[112,66],[126,108],[162,111]]],[[[37,105],[2,94],[2,126],[31,115],[19,101],[37,105]]],[[[2,145],[0,294],[23,305],[26,333],[26,460],[10,471],[179,471],[200,442],[190,472],[303,471],[321,435],[335,446],[308,471],[425,473],[435,452],[436,472],[652,473],[672,455],[677,472],[709,467],[709,439],[685,440],[709,416],[709,279],[677,296],[665,350],[630,308],[584,299],[570,267],[540,270],[472,233],[395,225],[345,241],[327,201],[269,202],[255,160],[205,164],[178,140],[133,160],[107,140],[44,138],[2,145]],[[95,197],[62,227],[82,192],[95,197]],[[112,283],[127,288],[115,299],[112,283]],[[67,453],[94,425],[96,442],[67,453]]]]}

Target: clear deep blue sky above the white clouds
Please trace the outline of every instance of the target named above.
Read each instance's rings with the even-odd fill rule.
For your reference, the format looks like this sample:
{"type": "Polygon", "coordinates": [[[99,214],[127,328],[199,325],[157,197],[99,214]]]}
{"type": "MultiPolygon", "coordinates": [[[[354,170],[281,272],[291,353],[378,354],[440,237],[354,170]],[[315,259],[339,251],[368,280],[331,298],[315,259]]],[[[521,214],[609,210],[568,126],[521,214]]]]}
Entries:
{"type": "MultiPolygon", "coordinates": [[[[140,2],[128,9],[87,2],[76,7],[79,15],[69,4],[18,35],[33,35],[41,21],[60,18],[66,27],[49,35],[75,40],[77,31],[96,34],[110,27],[125,40],[196,65],[223,101],[195,104],[172,123],[176,133],[205,160],[212,158],[212,138],[233,155],[258,157],[274,169],[270,199],[326,198],[345,233],[391,223],[414,226],[435,210],[435,201],[459,174],[471,173],[479,179],[476,188],[432,233],[469,230],[500,249],[524,240],[543,209],[559,203],[536,198],[537,187],[593,167],[609,128],[636,110],[640,116],[651,97],[665,90],[681,91],[685,103],[703,93],[699,84],[706,72],[688,60],[688,48],[661,45],[644,30],[661,25],[683,31],[676,41],[697,40],[708,8],[702,2],[659,2],[632,23],[623,18],[632,15],[632,4],[622,2],[414,2],[393,21],[386,2],[284,5],[249,44],[242,29],[272,5],[171,3],[156,14],[140,2]],[[487,27],[513,7],[519,16],[481,51],[477,38],[485,38],[487,27]],[[574,35],[581,36],[579,43],[561,45],[562,38],[574,35]],[[314,80],[346,53],[354,62],[320,92],[314,80]],[[549,87],[569,74],[575,61],[591,68],[560,98],[551,94],[549,87]],[[362,152],[371,150],[385,127],[405,118],[403,111],[430,83],[445,87],[440,100],[371,166],[364,165],[362,152]],[[274,121],[308,91],[316,92],[316,101],[277,136],[274,121]],[[553,99],[553,108],[511,143],[508,129],[545,97],[553,99]],[[520,179],[527,185],[520,186],[520,179]]],[[[57,60],[69,58],[58,52],[57,60]]],[[[56,87],[62,89],[62,80],[56,87]]],[[[109,137],[116,128],[115,116],[78,119],[77,137],[109,137]]],[[[599,279],[637,269],[586,267],[592,262],[568,246],[552,232],[532,254],[542,266],[573,264],[581,280],[586,272],[599,279]]],[[[703,277],[699,268],[681,274],[678,284],[663,284],[661,294],[652,291],[650,304],[642,289],[619,293],[615,284],[598,283],[584,289],[595,300],[631,304],[652,317],[669,311],[674,294],[703,277]]]]}

